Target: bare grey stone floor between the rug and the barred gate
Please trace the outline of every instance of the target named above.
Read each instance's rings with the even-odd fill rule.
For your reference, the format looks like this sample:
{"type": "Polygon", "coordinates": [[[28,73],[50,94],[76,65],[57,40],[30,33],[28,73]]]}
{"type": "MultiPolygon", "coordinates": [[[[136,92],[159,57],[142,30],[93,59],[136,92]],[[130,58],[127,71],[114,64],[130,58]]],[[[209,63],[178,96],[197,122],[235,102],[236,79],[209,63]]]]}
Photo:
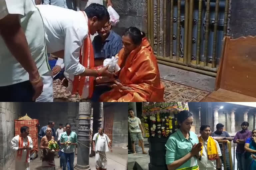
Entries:
{"type": "Polygon", "coordinates": [[[201,90],[213,91],[215,86],[215,77],[182,70],[179,68],[158,64],[160,77],[176,83],[195,87],[201,90]]]}

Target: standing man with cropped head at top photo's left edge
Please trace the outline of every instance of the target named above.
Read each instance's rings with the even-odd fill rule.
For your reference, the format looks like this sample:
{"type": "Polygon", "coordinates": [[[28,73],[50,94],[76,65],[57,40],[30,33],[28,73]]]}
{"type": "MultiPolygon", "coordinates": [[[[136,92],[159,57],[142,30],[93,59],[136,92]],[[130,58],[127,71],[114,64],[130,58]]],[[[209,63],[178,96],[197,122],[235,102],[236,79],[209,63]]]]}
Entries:
{"type": "Polygon", "coordinates": [[[0,101],[35,101],[51,83],[45,86],[51,76],[47,62],[43,21],[33,0],[1,0],[0,101]]]}

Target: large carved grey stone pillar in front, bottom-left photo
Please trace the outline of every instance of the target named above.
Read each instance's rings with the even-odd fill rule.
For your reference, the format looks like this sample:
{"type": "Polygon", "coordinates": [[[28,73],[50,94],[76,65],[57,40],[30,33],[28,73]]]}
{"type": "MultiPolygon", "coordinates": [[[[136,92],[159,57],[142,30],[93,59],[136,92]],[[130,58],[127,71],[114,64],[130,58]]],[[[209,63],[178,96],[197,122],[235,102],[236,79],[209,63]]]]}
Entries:
{"type": "Polygon", "coordinates": [[[76,164],[76,169],[78,170],[91,169],[89,165],[91,112],[91,102],[79,103],[79,124],[76,164]]]}

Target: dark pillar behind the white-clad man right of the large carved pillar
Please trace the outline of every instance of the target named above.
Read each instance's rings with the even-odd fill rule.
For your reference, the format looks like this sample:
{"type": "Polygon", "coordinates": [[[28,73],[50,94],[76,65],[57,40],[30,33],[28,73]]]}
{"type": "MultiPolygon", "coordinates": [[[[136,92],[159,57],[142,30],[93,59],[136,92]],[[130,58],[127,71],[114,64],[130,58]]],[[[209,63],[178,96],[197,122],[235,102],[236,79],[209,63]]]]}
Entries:
{"type": "MultiPolygon", "coordinates": [[[[92,103],[93,107],[93,124],[92,124],[92,138],[95,133],[98,133],[98,128],[102,127],[102,112],[103,112],[103,102],[92,103]]],[[[91,141],[92,142],[92,141],[91,141]]],[[[95,156],[95,151],[91,149],[90,157],[95,156]]]]}

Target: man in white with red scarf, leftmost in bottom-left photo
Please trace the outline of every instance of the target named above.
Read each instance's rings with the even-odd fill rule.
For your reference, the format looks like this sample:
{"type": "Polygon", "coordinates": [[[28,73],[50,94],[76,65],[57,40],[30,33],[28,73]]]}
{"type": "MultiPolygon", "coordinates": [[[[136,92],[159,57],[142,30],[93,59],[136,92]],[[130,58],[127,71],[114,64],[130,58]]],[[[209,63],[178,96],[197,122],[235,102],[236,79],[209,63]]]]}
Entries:
{"type": "Polygon", "coordinates": [[[20,128],[20,134],[12,138],[11,149],[15,154],[15,170],[29,170],[30,153],[33,141],[29,134],[29,127],[20,128]]]}

